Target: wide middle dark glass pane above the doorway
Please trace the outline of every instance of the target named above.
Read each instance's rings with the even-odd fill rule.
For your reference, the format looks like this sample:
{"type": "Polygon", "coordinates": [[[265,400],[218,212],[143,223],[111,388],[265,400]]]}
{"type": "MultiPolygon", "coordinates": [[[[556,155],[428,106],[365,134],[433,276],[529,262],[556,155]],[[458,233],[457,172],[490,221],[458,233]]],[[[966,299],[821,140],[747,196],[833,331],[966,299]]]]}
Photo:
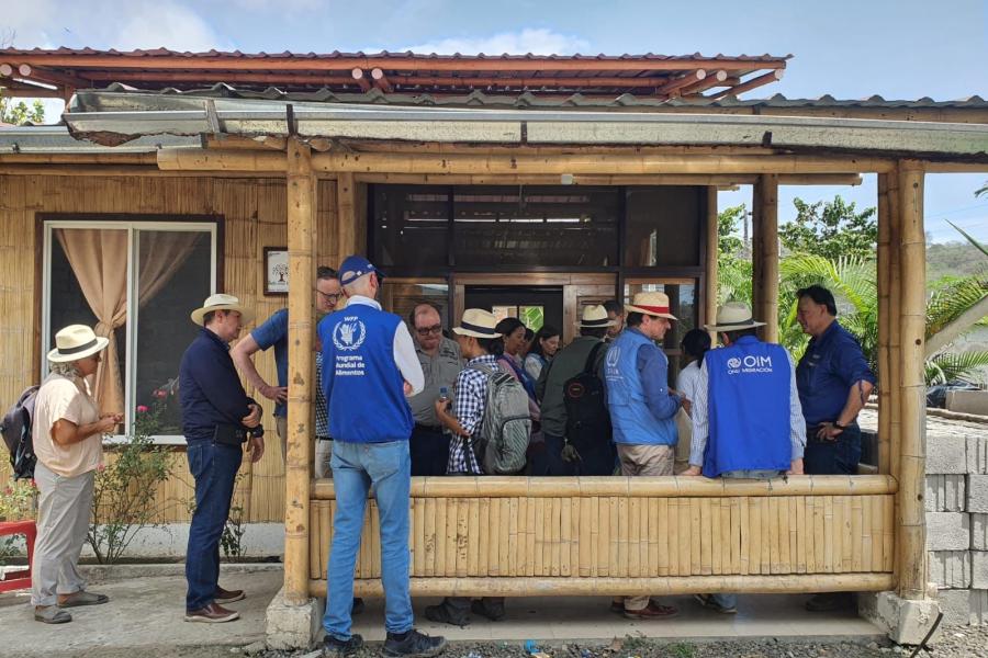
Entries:
{"type": "Polygon", "coordinates": [[[457,266],[616,265],[618,194],[572,185],[457,188],[457,266]]]}

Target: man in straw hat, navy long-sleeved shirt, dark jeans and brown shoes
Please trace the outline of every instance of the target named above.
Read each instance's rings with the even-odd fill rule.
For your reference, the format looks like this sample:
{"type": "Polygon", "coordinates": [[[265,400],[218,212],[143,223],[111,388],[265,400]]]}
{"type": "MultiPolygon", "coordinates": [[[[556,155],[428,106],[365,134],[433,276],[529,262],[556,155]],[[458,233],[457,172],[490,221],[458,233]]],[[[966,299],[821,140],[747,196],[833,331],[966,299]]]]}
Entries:
{"type": "Polygon", "coordinates": [[[251,314],[233,295],[212,295],[192,311],[202,327],[182,355],[179,397],[189,470],[195,479],[195,511],[186,551],[187,622],[232,622],[239,614],[223,608],[244,598],[243,590],[220,587],[220,537],[229,515],[243,443],[250,458],[265,453],[260,406],[247,397],[233,361],[229,341],[251,314]]]}

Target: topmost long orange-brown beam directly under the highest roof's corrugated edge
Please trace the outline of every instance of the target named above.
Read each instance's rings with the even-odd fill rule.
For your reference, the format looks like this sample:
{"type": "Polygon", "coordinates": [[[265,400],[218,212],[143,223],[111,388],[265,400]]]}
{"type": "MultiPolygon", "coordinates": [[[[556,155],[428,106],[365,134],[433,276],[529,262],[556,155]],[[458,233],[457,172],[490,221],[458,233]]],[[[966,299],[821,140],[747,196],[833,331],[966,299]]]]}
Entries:
{"type": "Polygon", "coordinates": [[[784,69],[785,59],[653,59],[645,57],[628,57],[615,59],[597,58],[440,58],[429,56],[414,57],[324,57],[324,58],[270,58],[257,57],[218,57],[197,56],[183,57],[166,55],[160,57],[125,57],[122,55],[63,55],[58,53],[19,54],[16,60],[45,67],[66,69],[180,69],[180,70],[279,70],[297,71],[314,70],[346,71],[352,68],[371,69],[380,66],[388,71],[685,71],[695,68],[716,67],[729,71],[746,71],[757,69],[784,69]]]}

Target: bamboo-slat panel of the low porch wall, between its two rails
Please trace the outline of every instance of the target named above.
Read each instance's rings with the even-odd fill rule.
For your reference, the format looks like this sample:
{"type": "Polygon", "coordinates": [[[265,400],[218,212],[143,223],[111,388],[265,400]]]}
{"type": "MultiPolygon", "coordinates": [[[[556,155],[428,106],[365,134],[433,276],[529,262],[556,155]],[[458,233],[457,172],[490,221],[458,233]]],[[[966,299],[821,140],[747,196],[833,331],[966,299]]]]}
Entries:
{"type": "MultiPolygon", "coordinates": [[[[324,499],[326,491],[315,490],[313,504],[319,510],[335,504],[324,499]]],[[[892,570],[892,491],[722,497],[516,496],[496,489],[490,494],[429,496],[416,495],[413,488],[413,579],[837,576],[892,570]]],[[[332,514],[313,511],[312,523],[321,551],[313,554],[311,572],[319,580],[326,578],[332,514]]],[[[369,501],[358,579],[379,577],[379,542],[375,509],[369,501]]]]}

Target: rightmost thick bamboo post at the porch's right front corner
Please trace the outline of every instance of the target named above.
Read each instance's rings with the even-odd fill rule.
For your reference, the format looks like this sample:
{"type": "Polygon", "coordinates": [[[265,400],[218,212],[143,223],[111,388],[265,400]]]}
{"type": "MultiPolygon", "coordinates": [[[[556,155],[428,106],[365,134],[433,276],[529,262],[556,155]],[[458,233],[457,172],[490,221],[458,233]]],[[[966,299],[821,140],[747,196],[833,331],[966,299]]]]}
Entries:
{"type": "Polygon", "coordinates": [[[916,160],[899,163],[901,234],[901,445],[899,446],[899,513],[896,526],[899,597],[923,599],[927,591],[927,526],[923,509],[927,400],[923,378],[927,254],[923,234],[923,168],[916,160]]]}

